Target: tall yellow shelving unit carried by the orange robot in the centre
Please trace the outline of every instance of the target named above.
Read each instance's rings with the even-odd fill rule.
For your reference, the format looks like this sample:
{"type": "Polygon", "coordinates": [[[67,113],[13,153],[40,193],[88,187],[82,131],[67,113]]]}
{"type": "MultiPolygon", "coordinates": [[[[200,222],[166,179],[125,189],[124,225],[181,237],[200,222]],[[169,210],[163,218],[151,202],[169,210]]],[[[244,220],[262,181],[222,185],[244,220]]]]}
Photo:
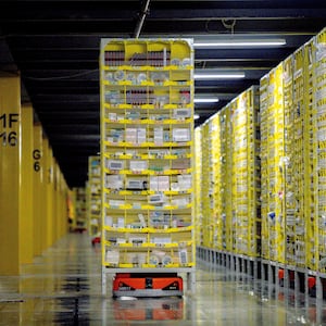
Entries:
{"type": "Polygon", "coordinates": [[[102,39],[100,72],[102,290],[126,271],[193,288],[192,42],[102,39]]]}

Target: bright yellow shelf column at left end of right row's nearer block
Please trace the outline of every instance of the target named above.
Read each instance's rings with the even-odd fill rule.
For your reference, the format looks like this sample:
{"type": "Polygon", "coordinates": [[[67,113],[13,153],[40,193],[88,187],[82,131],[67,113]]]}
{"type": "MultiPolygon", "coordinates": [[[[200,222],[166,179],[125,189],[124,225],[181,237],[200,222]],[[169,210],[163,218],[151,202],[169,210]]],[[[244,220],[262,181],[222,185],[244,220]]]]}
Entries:
{"type": "Polygon", "coordinates": [[[262,256],[285,262],[285,156],[283,64],[261,79],[262,256]]]}

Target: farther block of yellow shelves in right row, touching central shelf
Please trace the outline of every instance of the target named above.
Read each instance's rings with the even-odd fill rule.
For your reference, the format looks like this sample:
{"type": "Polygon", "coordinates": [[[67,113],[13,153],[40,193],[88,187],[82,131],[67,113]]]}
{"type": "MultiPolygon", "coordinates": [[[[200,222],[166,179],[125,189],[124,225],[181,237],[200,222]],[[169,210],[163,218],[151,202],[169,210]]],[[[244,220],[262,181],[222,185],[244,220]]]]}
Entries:
{"type": "MultiPolygon", "coordinates": [[[[259,96],[251,87],[198,127],[201,134],[202,242],[260,254],[259,96]]],[[[196,140],[198,140],[196,138],[196,140]]]]}

